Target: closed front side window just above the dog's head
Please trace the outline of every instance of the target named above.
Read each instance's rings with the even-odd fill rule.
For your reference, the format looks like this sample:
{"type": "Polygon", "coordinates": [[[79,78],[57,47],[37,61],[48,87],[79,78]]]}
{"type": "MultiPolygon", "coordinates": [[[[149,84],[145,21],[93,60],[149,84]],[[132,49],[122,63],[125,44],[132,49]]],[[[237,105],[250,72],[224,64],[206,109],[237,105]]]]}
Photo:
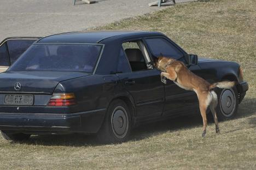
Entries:
{"type": "Polygon", "coordinates": [[[183,53],[164,38],[149,38],[146,42],[154,57],[165,56],[174,59],[183,57],[183,53]]]}

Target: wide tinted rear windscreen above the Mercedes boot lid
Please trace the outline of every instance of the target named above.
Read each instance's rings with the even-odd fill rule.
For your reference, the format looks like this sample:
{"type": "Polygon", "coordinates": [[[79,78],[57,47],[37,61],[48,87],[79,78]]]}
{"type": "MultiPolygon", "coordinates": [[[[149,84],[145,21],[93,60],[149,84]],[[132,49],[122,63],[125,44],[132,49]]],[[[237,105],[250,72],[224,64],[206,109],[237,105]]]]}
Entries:
{"type": "Polygon", "coordinates": [[[9,71],[93,72],[101,49],[97,44],[34,44],[9,71]]]}

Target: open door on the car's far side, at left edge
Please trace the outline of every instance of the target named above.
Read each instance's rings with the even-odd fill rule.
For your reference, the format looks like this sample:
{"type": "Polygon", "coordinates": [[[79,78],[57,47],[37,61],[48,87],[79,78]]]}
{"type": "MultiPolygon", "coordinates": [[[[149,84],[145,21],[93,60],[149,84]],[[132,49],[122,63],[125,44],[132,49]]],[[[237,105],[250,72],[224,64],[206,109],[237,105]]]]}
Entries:
{"type": "Polygon", "coordinates": [[[9,68],[40,37],[9,37],[0,43],[0,72],[9,68]]]}

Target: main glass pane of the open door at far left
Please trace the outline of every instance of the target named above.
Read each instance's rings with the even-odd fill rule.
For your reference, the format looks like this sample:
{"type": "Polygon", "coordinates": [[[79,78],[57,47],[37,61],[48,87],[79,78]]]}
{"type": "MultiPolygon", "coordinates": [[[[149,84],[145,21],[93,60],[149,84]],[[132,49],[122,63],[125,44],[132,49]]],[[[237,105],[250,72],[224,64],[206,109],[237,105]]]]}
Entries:
{"type": "Polygon", "coordinates": [[[7,41],[11,65],[34,43],[34,41],[36,40],[14,39],[7,41]]]}

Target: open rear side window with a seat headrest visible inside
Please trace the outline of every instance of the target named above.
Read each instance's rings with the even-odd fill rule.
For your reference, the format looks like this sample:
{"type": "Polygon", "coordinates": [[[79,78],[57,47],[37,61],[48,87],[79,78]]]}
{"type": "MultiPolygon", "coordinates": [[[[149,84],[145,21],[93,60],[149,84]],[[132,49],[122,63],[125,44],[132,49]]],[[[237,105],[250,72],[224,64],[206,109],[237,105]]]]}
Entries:
{"type": "MultiPolygon", "coordinates": [[[[148,53],[144,50],[146,47],[141,40],[129,41],[122,44],[127,59],[129,60],[132,71],[149,69],[146,64],[148,53]]],[[[149,57],[148,59],[149,60],[149,57]]]]}

